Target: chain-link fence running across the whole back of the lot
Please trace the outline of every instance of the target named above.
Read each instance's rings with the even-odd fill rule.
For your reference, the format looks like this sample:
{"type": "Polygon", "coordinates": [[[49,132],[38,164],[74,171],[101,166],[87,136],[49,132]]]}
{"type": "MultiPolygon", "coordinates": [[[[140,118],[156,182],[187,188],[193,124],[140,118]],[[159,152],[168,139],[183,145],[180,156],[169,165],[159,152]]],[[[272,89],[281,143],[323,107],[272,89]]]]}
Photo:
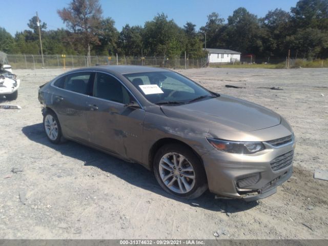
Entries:
{"type": "MultiPolygon", "coordinates": [[[[128,56],[91,56],[91,63],[88,57],[84,55],[44,55],[44,65],[40,55],[7,55],[8,64],[13,69],[40,69],[40,68],[81,68],[95,65],[137,65],[173,69],[188,69],[207,67],[207,57],[199,59],[188,59],[178,57],[170,59],[167,57],[128,57],[128,56]]],[[[316,61],[317,67],[327,67],[328,60],[316,61]]],[[[243,65],[243,64],[272,64],[278,65],[277,68],[306,67],[306,59],[295,59],[287,57],[278,58],[257,58],[251,56],[241,56],[240,61],[235,63],[225,63],[226,65],[243,65]]],[[[221,63],[211,63],[210,67],[222,65],[221,63]]]]}

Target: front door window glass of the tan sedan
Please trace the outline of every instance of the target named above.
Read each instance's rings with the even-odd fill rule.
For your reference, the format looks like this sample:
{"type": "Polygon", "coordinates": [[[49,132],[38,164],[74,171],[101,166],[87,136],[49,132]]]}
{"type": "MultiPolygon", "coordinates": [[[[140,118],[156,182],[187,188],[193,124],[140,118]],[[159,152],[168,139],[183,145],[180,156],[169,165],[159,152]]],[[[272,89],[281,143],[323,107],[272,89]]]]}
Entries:
{"type": "Polygon", "coordinates": [[[93,96],[121,104],[128,104],[132,100],[132,96],[120,81],[105,73],[96,74],[93,96]]]}

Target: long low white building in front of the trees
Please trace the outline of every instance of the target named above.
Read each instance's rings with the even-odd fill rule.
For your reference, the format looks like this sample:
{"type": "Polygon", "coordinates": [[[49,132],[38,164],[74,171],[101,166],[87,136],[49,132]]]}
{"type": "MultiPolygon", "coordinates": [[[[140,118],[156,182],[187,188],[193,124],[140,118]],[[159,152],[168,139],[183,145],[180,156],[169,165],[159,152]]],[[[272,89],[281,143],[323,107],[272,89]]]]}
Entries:
{"type": "MultiPolygon", "coordinates": [[[[205,49],[203,49],[205,50],[205,49]]],[[[223,49],[206,49],[209,63],[235,63],[240,61],[240,52],[223,49]]]]}

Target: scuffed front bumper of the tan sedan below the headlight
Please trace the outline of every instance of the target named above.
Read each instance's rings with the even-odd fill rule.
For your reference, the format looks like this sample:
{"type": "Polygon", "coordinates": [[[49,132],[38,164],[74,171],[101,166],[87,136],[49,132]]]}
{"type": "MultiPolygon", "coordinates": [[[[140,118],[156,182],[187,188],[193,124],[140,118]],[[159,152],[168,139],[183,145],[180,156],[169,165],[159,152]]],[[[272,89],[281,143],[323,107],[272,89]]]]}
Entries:
{"type": "Polygon", "coordinates": [[[210,191],[221,198],[242,198],[246,201],[276,193],[277,186],[292,176],[293,165],[290,163],[274,171],[270,162],[286,153],[293,153],[295,140],[278,148],[264,145],[267,148],[255,154],[233,154],[213,149],[203,155],[210,191]]]}

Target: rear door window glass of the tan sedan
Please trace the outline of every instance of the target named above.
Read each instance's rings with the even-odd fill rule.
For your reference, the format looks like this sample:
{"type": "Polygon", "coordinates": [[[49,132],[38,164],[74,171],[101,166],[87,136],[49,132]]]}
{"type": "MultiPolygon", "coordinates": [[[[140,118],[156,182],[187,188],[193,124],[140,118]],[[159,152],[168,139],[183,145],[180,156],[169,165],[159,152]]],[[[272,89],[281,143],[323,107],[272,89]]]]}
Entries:
{"type": "MultiPolygon", "coordinates": [[[[79,72],[64,77],[64,89],[85,95],[91,95],[91,72],[79,72]]],[[[58,82],[60,84],[60,82],[58,82]]]]}

